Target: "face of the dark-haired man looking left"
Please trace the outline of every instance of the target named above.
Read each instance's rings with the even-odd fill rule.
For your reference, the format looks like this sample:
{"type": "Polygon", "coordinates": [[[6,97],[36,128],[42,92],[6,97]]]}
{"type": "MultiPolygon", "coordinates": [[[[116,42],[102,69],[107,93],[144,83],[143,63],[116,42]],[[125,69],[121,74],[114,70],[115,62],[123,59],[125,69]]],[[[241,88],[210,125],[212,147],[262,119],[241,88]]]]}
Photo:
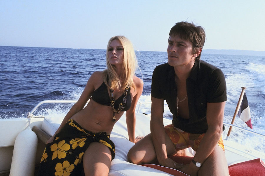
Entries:
{"type": "Polygon", "coordinates": [[[192,43],[183,40],[178,35],[169,36],[168,39],[168,64],[176,66],[193,65],[195,57],[192,43]]]}

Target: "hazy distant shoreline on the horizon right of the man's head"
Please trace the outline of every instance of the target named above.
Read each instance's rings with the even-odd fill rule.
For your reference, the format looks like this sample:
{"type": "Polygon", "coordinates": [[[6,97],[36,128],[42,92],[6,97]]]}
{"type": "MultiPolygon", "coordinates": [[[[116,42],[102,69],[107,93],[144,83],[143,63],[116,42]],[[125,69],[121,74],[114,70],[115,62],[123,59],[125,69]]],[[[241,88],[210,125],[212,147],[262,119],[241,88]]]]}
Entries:
{"type": "Polygon", "coordinates": [[[249,55],[249,56],[265,56],[265,51],[251,51],[251,50],[202,50],[202,54],[225,54],[225,55],[249,55]]]}

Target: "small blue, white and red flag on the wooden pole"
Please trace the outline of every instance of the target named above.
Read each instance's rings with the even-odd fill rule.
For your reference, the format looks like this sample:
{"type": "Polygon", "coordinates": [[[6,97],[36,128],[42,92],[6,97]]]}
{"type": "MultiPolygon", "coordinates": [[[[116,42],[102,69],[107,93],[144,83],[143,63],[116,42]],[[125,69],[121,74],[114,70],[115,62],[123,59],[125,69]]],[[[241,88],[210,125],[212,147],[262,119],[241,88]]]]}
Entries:
{"type": "Polygon", "coordinates": [[[250,119],[249,102],[246,97],[246,92],[244,92],[244,96],[237,115],[240,117],[241,120],[243,120],[247,124],[247,126],[249,126],[249,128],[253,128],[250,119]]]}

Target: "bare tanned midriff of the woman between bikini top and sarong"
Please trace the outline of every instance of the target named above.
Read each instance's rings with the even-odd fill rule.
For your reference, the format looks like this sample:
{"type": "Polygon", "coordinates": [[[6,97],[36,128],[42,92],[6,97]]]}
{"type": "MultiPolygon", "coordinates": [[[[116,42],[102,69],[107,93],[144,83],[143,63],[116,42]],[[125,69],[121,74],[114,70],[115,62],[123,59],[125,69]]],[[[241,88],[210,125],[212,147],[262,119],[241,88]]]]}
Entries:
{"type": "MultiPolygon", "coordinates": [[[[123,112],[115,114],[116,119],[120,119],[123,112]]],[[[93,133],[106,132],[110,134],[113,126],[113,111],[110,106],[102,105],[90,99],[87,106],[74,114],[71,119],[76,121],[82,128],[93,133]]]]}

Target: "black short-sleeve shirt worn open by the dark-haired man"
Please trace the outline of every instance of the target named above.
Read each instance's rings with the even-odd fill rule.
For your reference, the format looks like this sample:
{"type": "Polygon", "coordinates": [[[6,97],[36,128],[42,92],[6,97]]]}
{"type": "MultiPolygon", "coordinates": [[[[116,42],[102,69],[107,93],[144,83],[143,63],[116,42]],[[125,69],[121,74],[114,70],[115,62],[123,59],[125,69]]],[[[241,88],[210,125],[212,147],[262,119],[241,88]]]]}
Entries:
{"type": "Polygon", "coordinates": [[[186,79],[188,95],[189,119],[177,116],[174,67],[168,63],[158,65],[152,77],[151,96],[166,100],[173,114],[172,123],[183,131],[195,134],[205,133],[208,129],[206,121],[207,103],[227,100],[226,81],[223,72],[202,60],[195,61],[191,74],[186,79]]]}

